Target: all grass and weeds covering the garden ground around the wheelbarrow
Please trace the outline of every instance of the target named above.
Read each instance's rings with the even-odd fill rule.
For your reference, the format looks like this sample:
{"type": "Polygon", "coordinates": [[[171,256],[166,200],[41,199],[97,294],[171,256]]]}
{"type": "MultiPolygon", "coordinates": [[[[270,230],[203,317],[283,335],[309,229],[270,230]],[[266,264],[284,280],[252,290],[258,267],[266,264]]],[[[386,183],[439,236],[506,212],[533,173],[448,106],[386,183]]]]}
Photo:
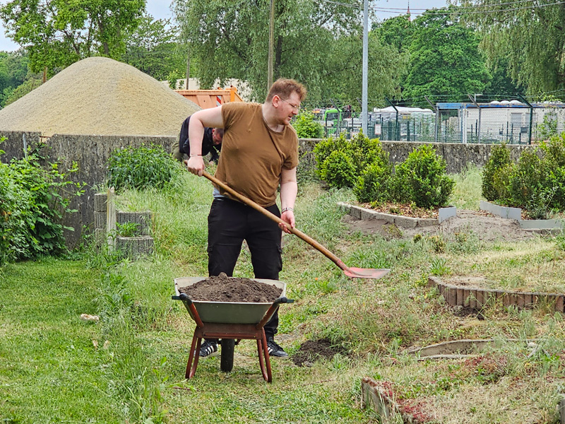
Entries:
{"type": "MultiPolygon", "coordinates": [[[[460,186],[466,188],[453,204],[471,208],[468,199],[480,199],[476,175],[460,176],[460,186]]],[[[194,379],[184,379],[194,322],[171,295],[174,278],[206,275],[206,179],[187,174],[172,192],[121,198],[121,209],[153,211],[153,257],[129,261],[93,251],[83,261],[7,266],[0,274],[0,422],[377,423],[361,407],[361,379],[371,377],[426,411],[430,423],[559,423],[563,315],[496,305],[477,319],[446,305],[426,283],[432,274],[482,273],[511,288],[542,270],[539,286],[557,289],[562,243],[459,237],[444,240],[438,253],[425,237],[387,241],[351,232],[336,206],[349,199],[347,191],[301,184],[298,228],[350,266],[391,273],[378,281],[346,278],[315,249],[285,235],[280,279],[295,303],[280,309],[277,341],[291,357],[304,342],[321,339],[342,353],[304,367],[273,360],[271,384],[261,377],[253,341],[236,347],[232,372],[220,371],[219,357],[206,358],[194,379]],[[514,281],[511,274],[524,277],[514,281]],[[82,321],[82,313],[100,322],[82,321]],[[407,353],[463,338],[498,343],[460,360],[407,353]]],[[[234,275],[253,276],[245,249],[234,275]]]]}

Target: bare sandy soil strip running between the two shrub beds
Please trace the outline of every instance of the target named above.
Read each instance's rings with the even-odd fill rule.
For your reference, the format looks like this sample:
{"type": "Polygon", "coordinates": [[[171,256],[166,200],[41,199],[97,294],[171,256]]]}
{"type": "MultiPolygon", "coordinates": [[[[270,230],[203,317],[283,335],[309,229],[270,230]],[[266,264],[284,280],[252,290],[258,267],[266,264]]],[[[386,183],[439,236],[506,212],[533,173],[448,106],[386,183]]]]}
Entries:
{"type": "Polygon", "coordinates": [[[351,231],[366,234],[379,234],[387,239],[410,239],[420,235],[456,235],[473,234],[484,242],[521,241],[537,237],[533,231],[523,230],[516,220],[500,218],[484,211],[458,210],[457,216],[445,220],[439,225],[417,228],[399,228],[387,220],[359,220],[350,215],[343,218],[351,231]]]}

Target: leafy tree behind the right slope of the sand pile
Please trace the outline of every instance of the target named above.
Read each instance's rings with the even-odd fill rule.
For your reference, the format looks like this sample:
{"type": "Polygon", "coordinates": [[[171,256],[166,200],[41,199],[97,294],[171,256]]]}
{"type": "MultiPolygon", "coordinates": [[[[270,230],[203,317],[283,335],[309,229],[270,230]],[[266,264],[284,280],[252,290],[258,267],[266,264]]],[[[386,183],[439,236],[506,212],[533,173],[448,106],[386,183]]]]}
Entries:
{"type": "Polygon", "coordinates": [[[170,20],[155,20],[148,14],[126,38],[126,52],[122,58],[159,81],[176,81],[186,73],[186,47],[177,42],[177,28],[170,20]]]}

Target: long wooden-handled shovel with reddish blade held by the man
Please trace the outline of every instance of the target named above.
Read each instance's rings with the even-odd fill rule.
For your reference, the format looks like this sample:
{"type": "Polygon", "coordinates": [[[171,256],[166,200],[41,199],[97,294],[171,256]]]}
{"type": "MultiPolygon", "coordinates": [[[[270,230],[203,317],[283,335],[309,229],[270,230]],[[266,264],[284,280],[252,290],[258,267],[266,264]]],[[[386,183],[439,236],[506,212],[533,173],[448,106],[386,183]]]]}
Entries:
{"type": "Polygon", "coordinates": [[[336,257],[335,254],[333,254],[328,249],[326,249],[326,247],[323,247],[322,245],[319,244],[319,242],[316,242],[316,240],[305,235],[304,232],[299,231],[296,228],[290,228],[290,225],[285,223],[285,221],[280,219],[278,216],[267,211],[266,208],[263,208],[263,206],[256,204],[251,199],[247,199],[246,196],[244,196],[243,194],[239,194],[234,189],[227,186],[226,184],[221,182],[216,177],[213,177],[212,175],[208,174],[208,172],[203,172],[203,175],[204,175],[204,177],[210,179],[210,181],[213,182],[217,187],[220,187],[225,192],[232,195],[235,199],[241,201],[243,204],[246,204],[247,206],[251,206],[251,208],[254,208],[256,211],[263,213],[264,216],[266,216],[267,218],[270,218],[271,220],[274,220],[276,223],[284,224],[286,226],[286,228],[290,232],[292,232],[292,234],[297,235],[302,240],[307,242],[309,245],[311,245],[315,249],[318,249],[320,252],[322,252],[326,257],[328,257],[328,259],[331,259],[335,265],[339,266],[340,269],[343,270],[343,273],[346,276],[352,277],[352,278],[381,278],[383,276],[386,276],[386,274],[389,271],[391,271],[390,269],[355,268],[353,266],[349,267],[349,266],[345,265],[341,259],[336,257]]]}

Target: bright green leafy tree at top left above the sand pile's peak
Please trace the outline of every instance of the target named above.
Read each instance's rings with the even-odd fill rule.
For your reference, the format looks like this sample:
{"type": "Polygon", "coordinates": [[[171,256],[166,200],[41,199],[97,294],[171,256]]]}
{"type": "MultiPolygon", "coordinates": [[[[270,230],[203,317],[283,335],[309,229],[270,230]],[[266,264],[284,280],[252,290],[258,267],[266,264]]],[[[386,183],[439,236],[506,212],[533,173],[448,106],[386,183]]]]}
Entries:
{"type": "Polygon", "coordinates": [[[11,0],[0,7],[0,19],[37,72],[93,55],[121,57],[144,8],[145,0],[11,0]]]}

